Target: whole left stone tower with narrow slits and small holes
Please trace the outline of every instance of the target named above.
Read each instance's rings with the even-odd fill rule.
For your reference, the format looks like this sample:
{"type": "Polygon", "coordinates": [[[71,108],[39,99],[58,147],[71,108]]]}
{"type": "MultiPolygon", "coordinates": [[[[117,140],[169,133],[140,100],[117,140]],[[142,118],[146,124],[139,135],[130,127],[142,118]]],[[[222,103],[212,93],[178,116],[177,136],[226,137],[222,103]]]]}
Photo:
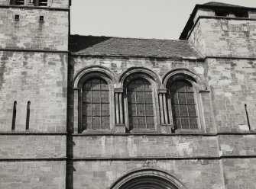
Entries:
{"type": "Polygon", "coordinates": [[[1,188],[64,188],[69,0],[0,1],[1,188]]]}

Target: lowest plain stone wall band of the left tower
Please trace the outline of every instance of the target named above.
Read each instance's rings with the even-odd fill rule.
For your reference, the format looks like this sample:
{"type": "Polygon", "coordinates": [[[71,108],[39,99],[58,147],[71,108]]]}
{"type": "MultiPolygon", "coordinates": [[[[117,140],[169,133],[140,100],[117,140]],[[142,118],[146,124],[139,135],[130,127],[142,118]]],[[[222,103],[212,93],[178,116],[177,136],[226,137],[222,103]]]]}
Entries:
{"type": "Polygon", "coordinates": [[[66,185],[66,162],[0,162],[0,169],[0,188],[63,189],[66,185]]]}

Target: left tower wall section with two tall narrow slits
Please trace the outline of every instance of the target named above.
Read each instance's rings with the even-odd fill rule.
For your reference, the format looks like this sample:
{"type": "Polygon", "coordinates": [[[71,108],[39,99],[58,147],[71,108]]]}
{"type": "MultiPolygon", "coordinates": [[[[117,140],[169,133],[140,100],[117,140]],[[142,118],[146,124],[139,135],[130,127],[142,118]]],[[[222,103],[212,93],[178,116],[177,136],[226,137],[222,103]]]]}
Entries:
{"type": "Polygon", "coordinates": [[[0,53],[0,130],[25,131],[28,101],[31,131],[66,132],[65,53],[0,53]]]}

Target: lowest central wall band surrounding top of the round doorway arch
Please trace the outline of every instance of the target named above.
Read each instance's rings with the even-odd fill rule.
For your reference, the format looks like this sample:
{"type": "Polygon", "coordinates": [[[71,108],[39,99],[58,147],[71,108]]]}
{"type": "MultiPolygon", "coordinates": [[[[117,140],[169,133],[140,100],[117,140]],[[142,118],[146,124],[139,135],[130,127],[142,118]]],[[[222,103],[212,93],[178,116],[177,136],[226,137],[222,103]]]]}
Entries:
{"type": "Polygon", "coordinates": [[[118,178],[139,168],[160,168],[187,188],[225,189],[219,160],[130,160],[73,162],[73,188],[105,189],[118,178]]]}

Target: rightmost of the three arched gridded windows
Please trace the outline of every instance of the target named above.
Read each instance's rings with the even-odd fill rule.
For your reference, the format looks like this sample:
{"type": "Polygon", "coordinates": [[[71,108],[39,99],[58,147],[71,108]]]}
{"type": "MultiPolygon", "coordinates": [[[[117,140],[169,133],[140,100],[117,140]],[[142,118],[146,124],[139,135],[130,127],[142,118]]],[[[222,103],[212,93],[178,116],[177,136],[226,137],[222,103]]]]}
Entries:
{"type": "Polygon", "coordinates": [[[198,129],[199,127],[193,85],[186,80],[177,80],[171,83],[169,92],[174,129],[198,129]]]}

